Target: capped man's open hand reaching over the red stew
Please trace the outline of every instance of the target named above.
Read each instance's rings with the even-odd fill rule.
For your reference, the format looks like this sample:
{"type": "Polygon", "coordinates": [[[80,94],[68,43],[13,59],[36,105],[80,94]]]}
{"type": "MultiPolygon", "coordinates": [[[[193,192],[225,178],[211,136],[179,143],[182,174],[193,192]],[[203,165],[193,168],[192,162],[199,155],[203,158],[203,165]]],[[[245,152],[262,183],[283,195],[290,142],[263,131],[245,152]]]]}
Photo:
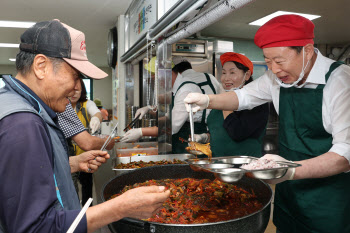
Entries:
{"type": "Polygon", "coordinates": [[[117,197],[120,199],[116,209],[123,218],[146,219],[159,211],[169,196],[170,191],[164,191],[164,186],[134,188],[117,197]]]}

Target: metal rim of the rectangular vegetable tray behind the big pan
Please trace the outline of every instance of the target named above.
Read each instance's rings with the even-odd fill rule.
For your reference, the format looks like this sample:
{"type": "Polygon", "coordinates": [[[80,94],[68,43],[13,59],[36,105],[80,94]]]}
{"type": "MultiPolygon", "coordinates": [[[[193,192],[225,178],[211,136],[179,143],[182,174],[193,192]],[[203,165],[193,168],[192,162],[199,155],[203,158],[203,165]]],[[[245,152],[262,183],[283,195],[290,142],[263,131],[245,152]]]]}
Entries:
{"type": "Polygon", "coordinates": [[[146,155],[146,156],[131,156],[131,157],[115,157],[113,158],[113,166],[112,170],[116,175],[132,171],[137,168],[127,168],[127,169],[116,169],[114,168],[116,165],[121,163],[130,163],[130,162],[136,162],[136,161],[143,161],[143,162],[150,162],[150,161],[161,161],[161,160],[168,160],[173,161],[174,159],[178,159],[181,161],[185,161],[188,159],[194,159],[195,156],[192,154],[166,154],[166,155],[146,155]]]}

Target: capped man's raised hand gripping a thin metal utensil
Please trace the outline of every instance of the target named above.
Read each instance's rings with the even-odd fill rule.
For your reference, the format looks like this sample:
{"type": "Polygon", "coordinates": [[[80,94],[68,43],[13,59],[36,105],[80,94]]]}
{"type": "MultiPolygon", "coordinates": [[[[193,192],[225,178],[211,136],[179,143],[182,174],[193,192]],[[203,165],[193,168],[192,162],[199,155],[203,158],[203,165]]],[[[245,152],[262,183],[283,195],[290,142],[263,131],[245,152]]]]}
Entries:
{"type": "MultiPolygon", "coordinates": [[[[69,161],[71,163],[71,159],[76,160],[73,166],[76,171],[73,172],[83,171],[94,173],[103,163],[106,163],[107,159],[109,158],[110,155],[107,153],[107,151],[90,150],[80,155],[69,157],[69,161]]],[[[73,167],[71,166],[71,170],[73,170],[73,167]]]]}

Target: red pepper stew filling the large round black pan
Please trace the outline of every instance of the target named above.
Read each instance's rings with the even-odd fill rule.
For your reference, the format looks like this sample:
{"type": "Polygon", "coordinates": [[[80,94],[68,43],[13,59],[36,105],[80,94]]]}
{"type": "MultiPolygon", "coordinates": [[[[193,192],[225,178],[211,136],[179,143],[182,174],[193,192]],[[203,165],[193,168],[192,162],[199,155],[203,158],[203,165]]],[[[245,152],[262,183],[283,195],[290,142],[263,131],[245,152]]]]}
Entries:
{"type": "Polygon", "coordinates": [[[219,180],[209,179],[164,179],[125,186],[117,197],[129,189],[140,186],[163,185],[170,189],[170,197],[163,208],[150,222],[171,224],[199,224],[227,221],[252,214],[263,205],[253,190],[248,192],[240,187],[219,180]]]}

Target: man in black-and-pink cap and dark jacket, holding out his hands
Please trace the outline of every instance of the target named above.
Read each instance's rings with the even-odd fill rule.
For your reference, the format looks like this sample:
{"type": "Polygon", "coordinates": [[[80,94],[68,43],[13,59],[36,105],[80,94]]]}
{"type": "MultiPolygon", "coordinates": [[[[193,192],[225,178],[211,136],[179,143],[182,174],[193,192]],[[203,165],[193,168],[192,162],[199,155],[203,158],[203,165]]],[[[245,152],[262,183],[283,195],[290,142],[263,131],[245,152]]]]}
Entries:
{"type": "MultiPolygon", "coordinates": [[[[5,77],[0,89],[0,232],[66,232],[80,211],[71,172],[94,172],[109,155],[68,158],[55,112],[66,109],[81,74],[107,74],[88,61],[84,34],[58,20],[22,34],[16,67],[16,77],[5,77]]],[[[75,232],[150,217],[168,196],[164,187],[130,190],[90,207],[75,232]]]]}

